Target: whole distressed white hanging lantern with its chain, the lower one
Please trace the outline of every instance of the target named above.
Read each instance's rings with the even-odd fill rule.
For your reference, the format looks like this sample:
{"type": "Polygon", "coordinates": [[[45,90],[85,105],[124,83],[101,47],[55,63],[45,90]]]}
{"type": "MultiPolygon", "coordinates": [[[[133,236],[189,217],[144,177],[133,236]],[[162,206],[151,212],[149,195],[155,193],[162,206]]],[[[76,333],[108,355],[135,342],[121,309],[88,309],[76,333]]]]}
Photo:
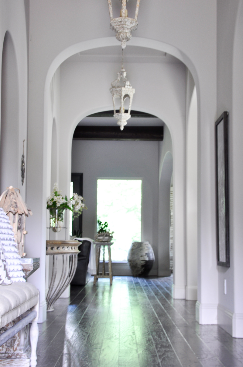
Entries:
{"type": "Polygon", "coordinates": [[[123,66],[123,49],[122,68],[119,73],[117,73],[117,79],[112,81],[110,91],[113,99],[114,117],[118,120],[117,125],[123,130],[124,126],[127,124],[127,120],[131,117],[132,98],[135,93],[135,89],[132,88],[130,81],[127,80],[127,72],[123,66]],[[125,108],[127,112],[125,112],[125,108]],[[119,112],[116,112],[116,110],[119,112]]]}

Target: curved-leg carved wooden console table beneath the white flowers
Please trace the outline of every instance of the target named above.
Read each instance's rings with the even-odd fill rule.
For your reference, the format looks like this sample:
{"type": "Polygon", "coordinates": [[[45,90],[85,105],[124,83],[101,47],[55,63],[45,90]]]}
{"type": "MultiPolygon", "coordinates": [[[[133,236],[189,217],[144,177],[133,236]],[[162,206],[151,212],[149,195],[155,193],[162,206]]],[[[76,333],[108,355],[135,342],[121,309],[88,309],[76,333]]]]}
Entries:
{"type": "Polygon", "coordinates": [[[53,311],[53,304],[69,286],[74,277],[78,264],[78,241],[48,240],[46,241],[46,255],[52,255],[52,279],[46,296],[47,311],[53,311]],[[57,256],[63,256],[61,277],[55,286],[57,275],[57,256]]]}

